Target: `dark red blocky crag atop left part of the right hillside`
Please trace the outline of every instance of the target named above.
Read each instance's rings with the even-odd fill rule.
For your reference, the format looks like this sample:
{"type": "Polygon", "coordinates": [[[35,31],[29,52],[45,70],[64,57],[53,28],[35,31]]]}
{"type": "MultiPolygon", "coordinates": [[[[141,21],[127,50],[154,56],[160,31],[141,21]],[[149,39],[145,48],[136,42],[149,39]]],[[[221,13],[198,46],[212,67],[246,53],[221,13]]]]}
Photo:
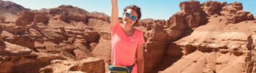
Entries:
{"type": "Polygon", "coordinates": [[[168,34],[170,40],[181,38],[183,34],[191,32],[192,28],[201,26],[208,21],[208,15],[200,9],[199,1],[185,1],[180,4],[181,12],[177,12],[169,20],[167,26],[170,27],[168,34]]]}

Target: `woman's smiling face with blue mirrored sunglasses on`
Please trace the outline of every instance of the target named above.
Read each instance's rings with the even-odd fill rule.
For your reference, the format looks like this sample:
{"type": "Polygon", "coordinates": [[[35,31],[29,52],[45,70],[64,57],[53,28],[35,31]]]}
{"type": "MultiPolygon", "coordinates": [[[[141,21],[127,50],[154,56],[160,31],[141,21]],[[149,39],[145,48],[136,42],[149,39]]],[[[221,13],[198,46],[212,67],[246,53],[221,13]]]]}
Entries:
{"type": "Polygon", "coordinates": [[[138,20],[138,14],[135,10],[127,9],[127,12],[124,12],[123,22],[125,25],[132,26],[138,20]]]}

